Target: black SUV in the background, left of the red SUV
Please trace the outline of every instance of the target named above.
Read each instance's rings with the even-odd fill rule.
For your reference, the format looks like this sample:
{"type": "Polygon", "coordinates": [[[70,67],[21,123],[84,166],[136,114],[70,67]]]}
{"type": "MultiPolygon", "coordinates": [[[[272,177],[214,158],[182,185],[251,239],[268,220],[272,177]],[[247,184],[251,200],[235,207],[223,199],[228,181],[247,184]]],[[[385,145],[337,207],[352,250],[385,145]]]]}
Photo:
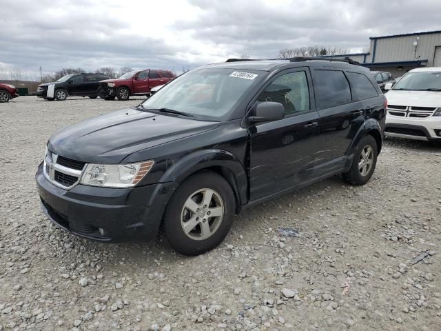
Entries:
{"type": "Polygon", "coordinates": [[[103,74],[67,74],[53,83],[45,83],[37,88],[37,97],[46,100],[63,101],[67,97],[98,97],[99,81],[109,79],[103,74]]]}

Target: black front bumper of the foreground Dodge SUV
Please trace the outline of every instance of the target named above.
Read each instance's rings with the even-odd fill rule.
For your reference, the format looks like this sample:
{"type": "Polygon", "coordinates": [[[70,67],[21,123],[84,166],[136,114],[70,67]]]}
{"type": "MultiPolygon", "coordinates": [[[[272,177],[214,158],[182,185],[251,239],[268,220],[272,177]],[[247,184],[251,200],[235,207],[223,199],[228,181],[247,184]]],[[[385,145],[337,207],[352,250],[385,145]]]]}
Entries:
{"type": "Polygon", "coordinates": [[[169,182],[139,188],[99,188],[79,184],[63,190],[44,177],[42,163],[35,179],[41,209],[50,221],[76,236],[98,241],[156,237],[165,207],[178,185],[169,182]]]}

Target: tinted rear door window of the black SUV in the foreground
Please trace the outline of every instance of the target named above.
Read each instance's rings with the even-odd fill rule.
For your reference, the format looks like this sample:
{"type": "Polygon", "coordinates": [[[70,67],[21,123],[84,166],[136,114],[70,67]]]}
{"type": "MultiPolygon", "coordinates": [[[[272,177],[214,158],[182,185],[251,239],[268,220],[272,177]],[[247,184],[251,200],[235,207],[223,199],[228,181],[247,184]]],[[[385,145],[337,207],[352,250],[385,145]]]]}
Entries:
{"type": "Polygon", "coordinates": [[[351,88],[340,70],[314,70],[314,90],[318,108],[330,108],[351,102],[351,88]]]}

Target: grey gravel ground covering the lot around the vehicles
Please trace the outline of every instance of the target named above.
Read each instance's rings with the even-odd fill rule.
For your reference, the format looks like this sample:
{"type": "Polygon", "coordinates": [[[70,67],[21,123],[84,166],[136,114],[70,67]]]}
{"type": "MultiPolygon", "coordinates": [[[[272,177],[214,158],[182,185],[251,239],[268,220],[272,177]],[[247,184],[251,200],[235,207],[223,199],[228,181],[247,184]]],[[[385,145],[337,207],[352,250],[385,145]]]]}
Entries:
{"type": "Polygon", "coordinates": [[[34,184],[50,134],[139,102],[0,104],[0,330],[441,330],[441,144],[387,139],[367,185],[246,210],[200,257],[51,225],[34,184]]]}

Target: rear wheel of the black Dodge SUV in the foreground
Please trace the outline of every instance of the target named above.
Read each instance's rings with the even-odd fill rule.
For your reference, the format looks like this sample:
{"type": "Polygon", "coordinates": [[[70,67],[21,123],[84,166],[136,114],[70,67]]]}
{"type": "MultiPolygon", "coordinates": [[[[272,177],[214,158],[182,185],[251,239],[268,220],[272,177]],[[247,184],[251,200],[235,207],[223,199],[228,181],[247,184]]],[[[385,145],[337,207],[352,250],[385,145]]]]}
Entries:
{"type": "Polygon", "coordinates": [[[377,164],[378,147],[370,134],[361,139],[353,155],[352,166],[343,174],[343,179],[351,185],[364,185],[371,179],[377,164]]]}

